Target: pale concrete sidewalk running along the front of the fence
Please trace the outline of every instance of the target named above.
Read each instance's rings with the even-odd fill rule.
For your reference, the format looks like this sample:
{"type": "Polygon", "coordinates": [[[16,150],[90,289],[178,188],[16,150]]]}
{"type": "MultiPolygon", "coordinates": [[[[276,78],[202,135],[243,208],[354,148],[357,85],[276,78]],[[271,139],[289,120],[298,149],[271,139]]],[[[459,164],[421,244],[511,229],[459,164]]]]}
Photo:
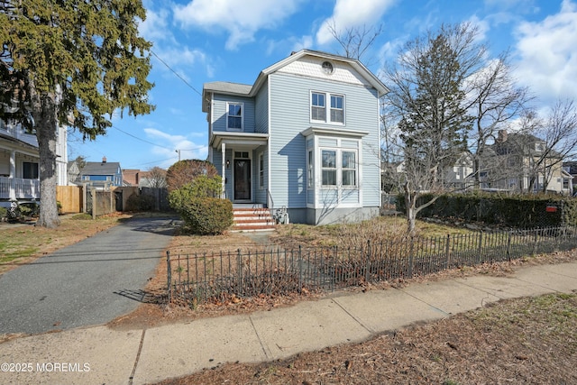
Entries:
{"type": "Polygon", "coordinates": [[[0,344],[0,363],[9,364],[2,363],[0,383],[150,383],[224,362],[271,361],[360,342],[499,299],[553,292],[577,292],[577,262],[521,268],[507,278],[474,276],[340,293],[293,307],[147,330],[102,325],[32,335],[0,344]]]}

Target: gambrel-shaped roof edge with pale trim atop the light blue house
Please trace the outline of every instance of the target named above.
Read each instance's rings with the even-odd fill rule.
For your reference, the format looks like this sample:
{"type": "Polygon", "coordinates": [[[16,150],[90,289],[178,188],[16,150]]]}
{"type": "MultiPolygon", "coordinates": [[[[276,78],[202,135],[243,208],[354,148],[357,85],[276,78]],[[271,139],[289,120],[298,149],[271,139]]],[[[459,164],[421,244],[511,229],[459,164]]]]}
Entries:
{"type": "Polygon", "coordinates": [[[349,64],[353,69],[355,69],[363,78],[365,78],[369,84],[377,90],[378,97],[383,96],[389,92],[387,88],[379,78],[377,78],[369,69],[367,69],[359,60],[346,58],[344,56],[334,55],[332,53],[321,52],[319,50],[299,50],[298,52],[292,52],[288,58],[278,61],[277,63],[262,69],[258,78],[256,78],[252,86],[241,83],[230,83],[224,81],[215,81],[210,83],[205,83],[203,87],[203,112],[208,112],[210,101],[209,97],[206,97],[206,93],[218,92],[225,95],[237,95],[237,96],[255,96],[261,86],[264,84],[266,78],[278,71],[279,69],[289,65],[290,63],[300,60],[305,56],[313,56],[316,58],[342,61],[349,64]]]}

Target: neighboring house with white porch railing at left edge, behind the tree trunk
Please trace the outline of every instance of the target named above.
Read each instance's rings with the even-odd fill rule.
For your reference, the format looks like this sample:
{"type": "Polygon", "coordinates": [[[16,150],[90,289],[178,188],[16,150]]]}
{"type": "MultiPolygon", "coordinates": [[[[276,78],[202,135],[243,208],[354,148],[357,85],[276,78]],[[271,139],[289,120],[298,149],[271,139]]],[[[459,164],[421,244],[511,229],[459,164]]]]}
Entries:
{"type": "MultiPolygon", "coordinates": [[[[67,131],[59,127],[56,142],[57,185],[68,184],[67,131]]],[[[40,199],[40,155],[35,133],[0,120],[0,206],[9,201],[40,199]]]]}

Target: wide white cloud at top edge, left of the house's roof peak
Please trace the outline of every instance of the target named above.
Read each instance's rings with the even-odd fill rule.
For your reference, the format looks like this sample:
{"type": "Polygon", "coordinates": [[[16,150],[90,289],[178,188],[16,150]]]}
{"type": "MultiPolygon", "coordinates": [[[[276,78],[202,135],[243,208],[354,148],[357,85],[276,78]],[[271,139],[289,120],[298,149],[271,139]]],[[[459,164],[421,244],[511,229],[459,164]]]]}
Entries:
{"type": "Polygon", "coordinates": [[[227,50],[254,40],[262,28],[273,28],[297,11],[302,0],[194,0],[175,5],[174,19],[184,27],[197,26],[206,31],[229,33],[227,50]]]}

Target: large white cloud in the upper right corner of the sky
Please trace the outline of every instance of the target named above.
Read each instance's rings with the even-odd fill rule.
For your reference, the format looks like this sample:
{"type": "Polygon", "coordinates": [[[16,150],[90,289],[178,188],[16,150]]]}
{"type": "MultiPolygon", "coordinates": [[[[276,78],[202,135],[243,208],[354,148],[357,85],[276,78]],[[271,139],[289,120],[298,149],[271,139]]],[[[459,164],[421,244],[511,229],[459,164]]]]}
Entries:
{"type": "Polygon", "coordinates": [[[542,99],[577,98],[577,4],[517,27],[517,78],[542,99]]]}

